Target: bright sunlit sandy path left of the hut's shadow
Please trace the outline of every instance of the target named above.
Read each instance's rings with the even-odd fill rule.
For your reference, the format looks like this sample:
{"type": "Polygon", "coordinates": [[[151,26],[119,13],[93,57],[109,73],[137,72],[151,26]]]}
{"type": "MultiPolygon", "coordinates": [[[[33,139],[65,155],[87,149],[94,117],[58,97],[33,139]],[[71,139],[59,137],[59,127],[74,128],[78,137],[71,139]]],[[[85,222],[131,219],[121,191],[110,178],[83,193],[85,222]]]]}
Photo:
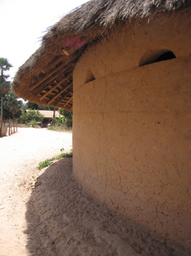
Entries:
{"type": "Polygon", "coordinates": [[[29,255],[26,250],[26,203],[43,161],[70,151],[72,133],[19,128],[11,137],[0,138],[0,255],[29,255]]]}

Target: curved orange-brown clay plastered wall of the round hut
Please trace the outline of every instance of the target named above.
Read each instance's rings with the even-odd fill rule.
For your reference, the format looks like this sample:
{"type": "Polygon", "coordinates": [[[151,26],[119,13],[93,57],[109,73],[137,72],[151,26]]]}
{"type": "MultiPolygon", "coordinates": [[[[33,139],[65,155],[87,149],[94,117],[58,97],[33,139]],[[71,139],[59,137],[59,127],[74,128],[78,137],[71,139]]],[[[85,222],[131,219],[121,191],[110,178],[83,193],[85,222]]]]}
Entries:
{"type": "Polygon", "coordinates": [[[190,32],[183,22],[142,24],[89,48],[74,71],[73,107],[77,181],[112,212],[188,255],[190,32]],[[156,46],[177,58],[137,67],[156,46]],[[95,80],[84,84],[89,69],[95,80]]]}

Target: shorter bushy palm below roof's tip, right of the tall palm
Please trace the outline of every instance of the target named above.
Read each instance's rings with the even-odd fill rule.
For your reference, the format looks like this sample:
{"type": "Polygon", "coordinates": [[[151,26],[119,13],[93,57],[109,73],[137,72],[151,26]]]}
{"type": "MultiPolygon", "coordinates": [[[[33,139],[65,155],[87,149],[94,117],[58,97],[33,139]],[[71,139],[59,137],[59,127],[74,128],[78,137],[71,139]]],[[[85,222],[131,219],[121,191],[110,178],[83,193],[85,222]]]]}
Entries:
{"type": "Polygon", "coordinates": [[[18,100],[18,97],[14,94],[13,91],[8,92],[5,94],[5,102],[4,107],[9,109],[9,111],[13,115],[14,120],[14,114],[16,114],[19,110],[22,109],[23,102],[18,100]]]}

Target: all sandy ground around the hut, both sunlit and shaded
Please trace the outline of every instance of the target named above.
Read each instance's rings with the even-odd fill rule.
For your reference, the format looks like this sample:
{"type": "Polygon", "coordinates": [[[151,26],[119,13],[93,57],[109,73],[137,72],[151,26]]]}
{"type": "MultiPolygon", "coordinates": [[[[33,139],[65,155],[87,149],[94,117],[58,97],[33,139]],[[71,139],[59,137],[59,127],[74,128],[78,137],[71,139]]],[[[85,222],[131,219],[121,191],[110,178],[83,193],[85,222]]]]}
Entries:
{"type": "Polygon", "coordinates": [[[0,138],[0,256],[183,256],[94,202],[72,174],[72,133],[19,128],[0,138]]]}

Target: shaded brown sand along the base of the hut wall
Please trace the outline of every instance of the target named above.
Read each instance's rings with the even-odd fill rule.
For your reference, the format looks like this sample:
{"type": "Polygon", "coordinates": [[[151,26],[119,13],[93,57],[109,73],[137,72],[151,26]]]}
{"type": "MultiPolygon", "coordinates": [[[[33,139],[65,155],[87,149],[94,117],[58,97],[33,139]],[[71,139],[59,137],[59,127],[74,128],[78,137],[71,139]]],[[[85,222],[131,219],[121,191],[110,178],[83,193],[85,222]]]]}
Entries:
{"type": "Polygon", "coordinates": [[[72,158],[38,177],[26,219],[30,256],[183,256],[94,202],[76,183],[72,158]]]}

